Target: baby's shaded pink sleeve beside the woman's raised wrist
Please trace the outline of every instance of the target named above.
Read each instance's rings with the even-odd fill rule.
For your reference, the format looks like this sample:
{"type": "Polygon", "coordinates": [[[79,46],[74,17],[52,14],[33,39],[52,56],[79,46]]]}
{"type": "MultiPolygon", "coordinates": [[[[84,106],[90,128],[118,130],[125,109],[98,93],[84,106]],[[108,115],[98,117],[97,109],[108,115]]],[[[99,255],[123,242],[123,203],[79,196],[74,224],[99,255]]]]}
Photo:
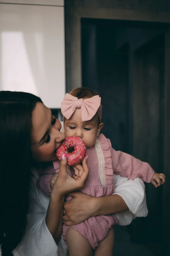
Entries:
{"type": "Polygon", "coordinates": [[[54,167],[51,165],[43,171],[42,176],[37,180],[38,186],[47,196],[51,195],[50,179],[55,173],[54,167]]]}

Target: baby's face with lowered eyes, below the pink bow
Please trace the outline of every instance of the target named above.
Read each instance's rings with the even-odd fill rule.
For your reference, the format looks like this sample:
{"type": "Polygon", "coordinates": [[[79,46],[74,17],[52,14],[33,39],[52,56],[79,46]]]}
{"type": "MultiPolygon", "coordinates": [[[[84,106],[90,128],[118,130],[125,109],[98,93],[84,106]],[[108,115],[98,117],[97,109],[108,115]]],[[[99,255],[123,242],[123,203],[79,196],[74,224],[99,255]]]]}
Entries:
{"type": "Polygon", "coordinates": [[[96,113],[91,120],[82,122],[81,110],[76,109],[71,118],[68,120],[66,119],[64,124],[64,133],[66,137],[81,137],[82,140],[86,143],[88,149],[94,145],[96,137],[99,136],[102,127],[103,123],[99,124],[98,113],[96,113]]]}

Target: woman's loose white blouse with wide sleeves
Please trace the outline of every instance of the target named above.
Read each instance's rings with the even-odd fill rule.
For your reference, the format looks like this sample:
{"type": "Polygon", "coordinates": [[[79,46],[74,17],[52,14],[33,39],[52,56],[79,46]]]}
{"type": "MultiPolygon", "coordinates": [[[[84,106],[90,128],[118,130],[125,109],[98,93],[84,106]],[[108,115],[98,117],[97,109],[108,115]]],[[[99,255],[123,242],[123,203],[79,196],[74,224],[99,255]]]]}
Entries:
{"type": "MultiPolygon", "coordinates": [[[[61,123],[61,131],[64,133],[63,122],[61,123]]],[[[50,197],[45,195],[37,186],[38,178],[36,170],[33,170],[26,235],[13,251],[13,255],[66,256],[66,241],[61,238],[57,246],[46,226],[45,217],[50,197]]],[[[148,215],[148,209],[143,181],[140,178],[128,180],[126,177],[113,174],[113,182],[115,184],[114,194],[120,195],[129,208],[129,211],[115,214],[118,219],[118,225],[126,226],[136,217],[146,217],[148,215]]]]}

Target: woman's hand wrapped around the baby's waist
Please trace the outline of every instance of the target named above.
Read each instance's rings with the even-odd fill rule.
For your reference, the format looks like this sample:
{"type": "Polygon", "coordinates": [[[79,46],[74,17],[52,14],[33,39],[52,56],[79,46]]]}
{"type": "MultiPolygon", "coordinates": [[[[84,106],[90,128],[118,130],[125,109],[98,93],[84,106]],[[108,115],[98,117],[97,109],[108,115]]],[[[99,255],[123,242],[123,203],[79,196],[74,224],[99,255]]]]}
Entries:
{"type": "Polygon", "coordinates": [[[88,196],[80,191],[68,193],[67,196],[71,196],[72,199],[64,202],[64,224],[76,225],[95,216],[96,197],[88,196]]]}

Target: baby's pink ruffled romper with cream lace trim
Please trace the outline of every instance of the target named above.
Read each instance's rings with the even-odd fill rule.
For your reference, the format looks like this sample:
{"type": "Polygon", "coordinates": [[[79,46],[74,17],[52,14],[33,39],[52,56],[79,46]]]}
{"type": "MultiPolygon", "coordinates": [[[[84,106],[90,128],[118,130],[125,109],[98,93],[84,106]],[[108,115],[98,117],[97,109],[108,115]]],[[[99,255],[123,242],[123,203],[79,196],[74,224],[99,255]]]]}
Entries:
{"type": "MultiPolygon", "coordinates": [[[[101,197],[114,193],[113,173],[119,174],[129,179],[137,177],[145,182],[150,182],[154,170],[148,163],[142,162],[135,157],[115,151],[109,139],[100,134],[93,147],[87,150],[87,164],[90,173],[85,182],[84,188],[80,191],[89,196],[101,197]]],[[[54,167],[49,167],[39,178],[38,183],[45,194],[51,194],[50,179],[59,172],[60,162],[54,161],[54,167]]],[[[72,167],[67,166],[70,176],[74,174],[72,167]]],[[[70,200],[66,198],[66,200],[70,200]]],[[[109,229],[117,223],[117,219],[112,215],[94,216],[72,227],[88,239],[91,247],[95,249],[107,236],[109,229]]],[[[70,226],[63,225],[63,238],[66,239],[66,232],[70,226]]]]}

